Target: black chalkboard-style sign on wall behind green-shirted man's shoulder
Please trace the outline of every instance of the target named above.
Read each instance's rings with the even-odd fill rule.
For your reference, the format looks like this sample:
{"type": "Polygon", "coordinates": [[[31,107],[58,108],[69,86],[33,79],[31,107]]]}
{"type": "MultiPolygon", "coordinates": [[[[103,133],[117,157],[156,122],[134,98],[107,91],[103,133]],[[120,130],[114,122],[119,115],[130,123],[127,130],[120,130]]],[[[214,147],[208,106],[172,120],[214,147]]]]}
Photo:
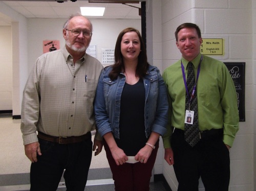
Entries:
{"type": "Polygon", "coordinates": [[[224,62],[237,90],[239,121],[245,122],[245,62],[224,62]]]}

